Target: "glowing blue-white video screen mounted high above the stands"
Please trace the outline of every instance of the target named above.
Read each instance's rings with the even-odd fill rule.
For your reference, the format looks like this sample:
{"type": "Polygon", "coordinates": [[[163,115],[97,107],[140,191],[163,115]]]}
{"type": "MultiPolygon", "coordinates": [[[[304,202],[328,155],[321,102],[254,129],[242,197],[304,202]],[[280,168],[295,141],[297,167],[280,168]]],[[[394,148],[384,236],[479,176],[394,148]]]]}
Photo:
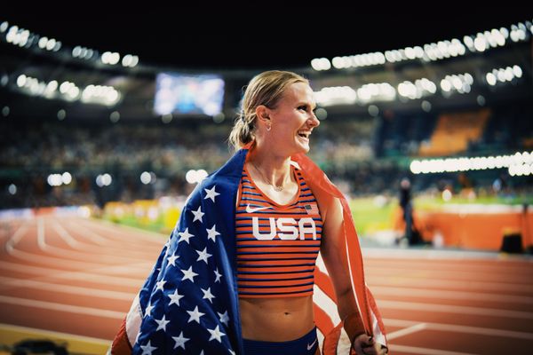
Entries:
{"type": "Polygon", "coordinates": [[[222,111],[224,80],[219,75],[160,73],[155,81],[156,114],[207,114],[222,111]]]}

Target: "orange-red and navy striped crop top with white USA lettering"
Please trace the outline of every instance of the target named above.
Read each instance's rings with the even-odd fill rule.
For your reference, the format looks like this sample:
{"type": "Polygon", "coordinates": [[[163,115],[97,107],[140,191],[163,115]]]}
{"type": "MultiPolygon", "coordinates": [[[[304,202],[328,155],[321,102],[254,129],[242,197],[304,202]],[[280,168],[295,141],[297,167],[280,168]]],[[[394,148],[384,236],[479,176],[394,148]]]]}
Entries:
{"type": "Polygon", "coordinates": [[[235,215],[240,297],[313,295],[322,217],[301,172],[291,169],[298,193],[280,205],[261,192],[244,166],[235,215]]]}

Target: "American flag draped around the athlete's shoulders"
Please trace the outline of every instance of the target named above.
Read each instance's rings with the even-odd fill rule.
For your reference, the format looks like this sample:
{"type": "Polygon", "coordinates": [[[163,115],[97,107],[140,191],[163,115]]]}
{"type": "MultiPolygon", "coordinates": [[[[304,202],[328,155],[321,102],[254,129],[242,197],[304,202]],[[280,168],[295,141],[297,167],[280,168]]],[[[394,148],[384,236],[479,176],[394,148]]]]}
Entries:
{"type": "MultiPolygon", "coordinates": [[[[179,223],[115,336],[112,354],[243,354],[236,284],[235,199],[248,147],[196,186],[179,223]]],[[[306,182],[342,201],[346,253],[359,331],[386,344],[385,329],[364,283],[362,256],[346,199],[305,155],[293,157],[306,182]]],[[[329,276],[319,256],[314,314],[323,353],[350,349],[329,276]]]]}

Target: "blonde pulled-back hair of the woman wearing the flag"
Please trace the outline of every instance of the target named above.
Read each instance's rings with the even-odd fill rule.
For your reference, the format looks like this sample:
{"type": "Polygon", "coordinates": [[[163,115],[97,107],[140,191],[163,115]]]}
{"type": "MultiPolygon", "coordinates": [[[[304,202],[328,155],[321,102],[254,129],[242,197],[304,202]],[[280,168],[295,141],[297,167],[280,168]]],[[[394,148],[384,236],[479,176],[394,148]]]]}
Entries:
{"type": "Polygon", "coordinates": [[[254,140],[256,108],[260,105],[270,108],[277,106],[283,91],[293,83],[308,84],[309,81],[296,73],[280,70],[263,72],[251,79],[244,91],[241,111],[228,138],[235,150],[254,140]]]}

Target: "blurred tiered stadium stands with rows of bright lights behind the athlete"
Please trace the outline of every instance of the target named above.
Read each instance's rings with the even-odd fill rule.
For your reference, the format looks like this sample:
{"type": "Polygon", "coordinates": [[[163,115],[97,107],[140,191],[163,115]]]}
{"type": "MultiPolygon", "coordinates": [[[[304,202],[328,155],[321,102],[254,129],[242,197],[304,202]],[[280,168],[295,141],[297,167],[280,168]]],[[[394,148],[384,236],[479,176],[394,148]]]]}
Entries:
{"type": "MultiPolygon", "coordinates": [[[[508,167],[429,174],[410,167],[417,159],[509,155],[533,146],[530,31],[494,31],[326,59],[327,70],[322,59],[298,69],[322,93],[327,113],[312,138],[314,161],[350,195],[394,195],[405,176],[414,193],[445,186],[492,191],[496,180],[510,192],[530,192],[529,168],[511,176],[508,167]]],[[[212,171],[231,154],[227,134],[255,71],[211,71],[225,83],[220,114],[155,114],[161,69],[131,66],[133,57],[129,66],[111,64],[113,53],[106,62],[105,53],[97,53],[98,62],[80,59],[87,49],[47,50],[28,44],[29,37],[31,49],[13,46],[24,36],[3,23],[0,208],[187,195],[194,186],[188,170],[212,171]],[[143,172],[156,178],[144,184],[143,172]],[[52,174],[65,173],[71,182],[51,185],[52,174]],[[109,185],[100,184],[105,174],[109,185]]]]}

